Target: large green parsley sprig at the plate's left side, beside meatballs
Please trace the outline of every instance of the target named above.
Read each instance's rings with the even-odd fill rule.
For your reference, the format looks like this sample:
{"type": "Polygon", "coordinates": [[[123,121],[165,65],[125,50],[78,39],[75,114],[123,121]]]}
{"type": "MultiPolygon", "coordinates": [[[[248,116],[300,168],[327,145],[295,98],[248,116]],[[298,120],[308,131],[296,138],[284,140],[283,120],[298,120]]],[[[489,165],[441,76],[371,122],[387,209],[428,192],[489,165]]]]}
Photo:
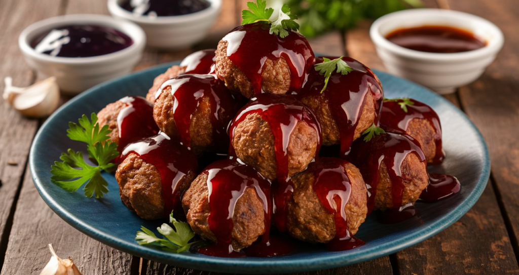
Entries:
{"type": "Polygon", "coordinates": [[[91,114],[90,120],[83,115],[78,124],[69,122],[67,136],[73,141],[86,143],[88,156],[95,160],[98,166],[88,164],[83,158],[83,153],[68,149],[60,156],[62,162],[55,161],[51,167],[50,181],[69,192],[76,191],[86,183],[85,196],[91,198],[95,194],[95,198],[99,199],[108,192],[108,183],[101,176],[101,170],[115,167],[115,163],[111,161],[119,152],[117,144],[108,141],[108,134],[111,132],[108,126],[100,128],[95,113],[91,114]]]}

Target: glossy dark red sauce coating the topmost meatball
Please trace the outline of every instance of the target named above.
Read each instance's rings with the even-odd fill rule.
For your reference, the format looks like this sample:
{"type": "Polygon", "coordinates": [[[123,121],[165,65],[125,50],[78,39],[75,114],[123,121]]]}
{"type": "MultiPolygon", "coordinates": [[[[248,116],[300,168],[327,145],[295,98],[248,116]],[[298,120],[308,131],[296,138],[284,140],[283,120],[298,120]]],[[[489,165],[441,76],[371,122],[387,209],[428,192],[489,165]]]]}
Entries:
{"type": "Polygon", "coordinates": [[[227,57],[247,76],[254,94],[262,93],[263,65],[267,58],[284,58],[290,70],[289,93],[303,87],[315,62],[315,56],[306,38],[296,32],[281,38],[269,33],[270,24],[241,25],[230,31],[222,40],[228,43],[227,57]]]}

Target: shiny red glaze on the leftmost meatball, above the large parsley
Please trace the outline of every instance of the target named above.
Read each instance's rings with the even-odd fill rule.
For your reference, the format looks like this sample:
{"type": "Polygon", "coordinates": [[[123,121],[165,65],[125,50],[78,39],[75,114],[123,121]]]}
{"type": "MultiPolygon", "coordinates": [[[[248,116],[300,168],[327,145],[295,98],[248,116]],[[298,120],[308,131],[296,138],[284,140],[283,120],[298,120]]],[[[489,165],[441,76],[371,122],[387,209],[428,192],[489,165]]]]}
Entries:
{"type": "Polygon", "coordinates": [[[142,97],[124,97],[119,100],[126,104],[117,115],[117,127],[119,130],[119,153],[126,145],[154,136],[159,128],[153,119],[153,105],[142,97]]]}

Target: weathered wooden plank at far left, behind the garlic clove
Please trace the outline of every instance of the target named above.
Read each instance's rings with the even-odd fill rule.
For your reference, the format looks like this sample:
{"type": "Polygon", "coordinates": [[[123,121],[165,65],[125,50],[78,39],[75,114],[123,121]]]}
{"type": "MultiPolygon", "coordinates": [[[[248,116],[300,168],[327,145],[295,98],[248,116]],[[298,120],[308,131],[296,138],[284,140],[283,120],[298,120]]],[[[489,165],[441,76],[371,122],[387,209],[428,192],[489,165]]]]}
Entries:
{"type": "MultiPolygon", "coordinates": [[[[57,15],[60,0],[2,1],[0,6],[0,91],[4,89],[6,76],[13,78],[15,86],[29,86],[34,74],[18,48],[18,35],[29,24],[57,15]]],[[[22,117],[0,98],[0,267],[8,246],[20,179],[37,126],[37,120],[22,117]]]]}

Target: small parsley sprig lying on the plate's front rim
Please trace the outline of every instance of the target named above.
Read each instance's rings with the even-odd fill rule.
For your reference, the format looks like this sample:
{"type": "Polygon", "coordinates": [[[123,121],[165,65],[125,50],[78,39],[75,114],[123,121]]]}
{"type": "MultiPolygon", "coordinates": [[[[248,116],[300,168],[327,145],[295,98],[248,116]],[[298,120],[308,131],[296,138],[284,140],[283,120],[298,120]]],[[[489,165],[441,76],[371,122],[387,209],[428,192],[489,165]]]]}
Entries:
{"type": "Polygon", "coordinates": [[[198,241],[189,242],[195,237],[195,232],[191,229],[188,223],[179,222],[173,217],[173,213],[169,215],[169,224],[162,224],[157,227],[157,231],[161,233],[166,239],[159,238],[151,230],[142,226],[142,231],[137,231],[135,240],[140,245],[157,247],[161,250],[180,253],[189,249],[189,247],[198,241]]]}

